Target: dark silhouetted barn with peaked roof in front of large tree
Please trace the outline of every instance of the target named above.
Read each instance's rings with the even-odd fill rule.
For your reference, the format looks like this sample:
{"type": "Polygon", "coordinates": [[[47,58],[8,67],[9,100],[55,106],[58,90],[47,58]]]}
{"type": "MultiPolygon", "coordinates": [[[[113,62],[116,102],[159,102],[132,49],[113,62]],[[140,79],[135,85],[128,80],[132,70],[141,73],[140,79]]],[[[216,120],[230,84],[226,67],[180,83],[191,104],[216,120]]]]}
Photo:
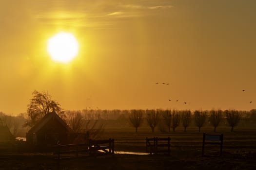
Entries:
{"type": "Polygon", "coordinates": [[[51,146],[72,143],[74,131],[55,112],[46,114],[32,127],[26,141],[34,146],[51,146]]]}

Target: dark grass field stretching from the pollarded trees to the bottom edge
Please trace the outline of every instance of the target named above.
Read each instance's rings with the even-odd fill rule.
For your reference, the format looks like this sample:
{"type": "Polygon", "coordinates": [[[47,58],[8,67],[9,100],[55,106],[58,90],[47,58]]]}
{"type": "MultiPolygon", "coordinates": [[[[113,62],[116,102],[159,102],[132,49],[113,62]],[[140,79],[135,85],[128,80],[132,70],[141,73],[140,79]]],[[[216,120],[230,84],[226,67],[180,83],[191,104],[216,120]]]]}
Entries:
{"type": "MultiPolygon", "coordinates": [[[[254,127],[177,128],[171,133],[152,133],[149,128],[104,129],[101,139],[114,138],[116,151],[145,152],[146,137],[171,137],[171,155],[132,155],[79,157],[57,160],[52,153],[0,153],[0,170],[255,170],[256,131],[254,127]],[[223,154],[220,157],[201,156],[203,132],[223,134],[223,154]]],[[[218,146],[205,149],[216,155],[218,146]]]]}

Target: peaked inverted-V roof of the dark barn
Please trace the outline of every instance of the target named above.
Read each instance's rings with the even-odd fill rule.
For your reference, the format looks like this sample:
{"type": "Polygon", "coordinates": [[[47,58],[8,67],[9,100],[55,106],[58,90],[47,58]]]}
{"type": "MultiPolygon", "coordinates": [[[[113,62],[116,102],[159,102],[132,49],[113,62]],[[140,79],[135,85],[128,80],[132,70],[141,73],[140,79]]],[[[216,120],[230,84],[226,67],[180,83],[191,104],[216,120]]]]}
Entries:
{"type": "Polygon", "coordinates": [[[51,119],[56,119],[59,121],[60,124],[63,125],[63,127],[71,133],[74,133],[74,131],[65,123],[63,119],[59,117],[59,115],[56,114],[55,111],[47,113],[35,126],[33,126],[29,131],[28,134],[32,133],[37,133],[49,120],[51,119]]]}

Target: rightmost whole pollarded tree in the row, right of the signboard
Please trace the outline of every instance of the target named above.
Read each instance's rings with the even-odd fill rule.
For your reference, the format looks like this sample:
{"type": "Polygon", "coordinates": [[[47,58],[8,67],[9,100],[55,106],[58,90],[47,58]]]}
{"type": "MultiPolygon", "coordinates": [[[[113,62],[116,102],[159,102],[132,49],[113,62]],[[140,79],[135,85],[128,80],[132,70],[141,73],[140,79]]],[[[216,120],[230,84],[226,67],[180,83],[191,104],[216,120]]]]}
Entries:
{"type": "Polygon", "coordinates": [[[231,132],[233,132],[234,127],[238,124],[239,120],[241,119],[241,114],[237,110],[225,110],[226,119],[231,126],[231,132]]]}

